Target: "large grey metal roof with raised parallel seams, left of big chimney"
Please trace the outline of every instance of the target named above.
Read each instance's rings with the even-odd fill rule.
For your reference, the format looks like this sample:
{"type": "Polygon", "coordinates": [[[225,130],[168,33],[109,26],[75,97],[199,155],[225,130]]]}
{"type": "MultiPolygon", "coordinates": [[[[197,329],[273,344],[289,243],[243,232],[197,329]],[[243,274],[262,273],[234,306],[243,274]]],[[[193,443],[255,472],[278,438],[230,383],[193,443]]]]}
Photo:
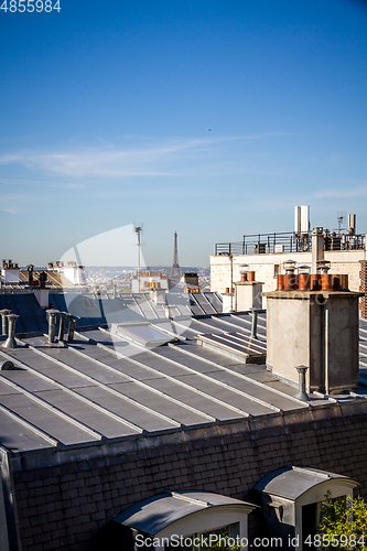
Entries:
{"type": "MultiPolygon", "coordinates": [[[[104,316],[97,317],[88,310],[96,304],[83,303],[90,296],[71,293],[71,302],[65,294],[51,296],[55,307],[84,315],[73,343],[47,343],[43,335],[47,332],[45,310],[37,306],[33,294],[0,294],[4,301],[1,306],[10,304],[10,310],[21,315],[18,333],[26,333],[18,348],[0,348],[0,361],[15,365],[14,370],[0,370],[0,444],[14,453],[270,419],[309,408],[320,407],[322,415],[336,400],[341,404],[365,403],[364,387],[357,391],[360,397],[312,395],[311,402],[304,403],[294,398],[296,389],[269,372],[266,365],[245,364],[223,348],[197,343],[198,335],[220,337],[228,346],[235,338],[231,335],[248,339],[249,313],[166,318],[160,316],[158,307],[150,309],[152,317],[148,320],[140,305],[150,307],[147,300],[128,295],[123,301],[94,299],[102,307],[104,316]],[[126,301],[131,301],[131,307],[126,301]],[[122,314],[127,320],[122,326],[148,320],[152,328],[179,337],[180,343],[148,349],[123,334],[111,334],[107,324],[98,328],[99,323],[122,314]]],[[[366,324],[361,323],[360,331],[364,363],[366,324]]],[[[265,346],[265,312],[259,314],[258,336],[259,345],[265,346]]]]}

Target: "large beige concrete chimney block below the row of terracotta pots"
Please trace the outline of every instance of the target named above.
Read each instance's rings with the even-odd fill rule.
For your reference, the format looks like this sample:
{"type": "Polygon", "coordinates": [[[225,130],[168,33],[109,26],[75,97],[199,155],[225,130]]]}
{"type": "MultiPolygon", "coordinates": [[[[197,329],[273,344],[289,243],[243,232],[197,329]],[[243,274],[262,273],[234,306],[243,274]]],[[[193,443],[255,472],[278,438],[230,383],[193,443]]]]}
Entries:
{"type": "Polygon", "coordinates": [[[274,374],[296,382],[295,366],[304,365],[312,390],[355,390],[358,293],[276,291],[267,299],[267,364],[274,374]]]}

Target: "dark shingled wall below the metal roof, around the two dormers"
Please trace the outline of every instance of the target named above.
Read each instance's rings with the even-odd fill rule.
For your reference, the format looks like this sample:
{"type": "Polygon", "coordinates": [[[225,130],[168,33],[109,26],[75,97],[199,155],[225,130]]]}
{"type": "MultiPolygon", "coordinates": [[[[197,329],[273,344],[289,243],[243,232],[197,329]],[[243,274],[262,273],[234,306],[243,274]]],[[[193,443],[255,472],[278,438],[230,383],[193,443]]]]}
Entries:
{"type": "MultiPolygon", "coordinates": [[[[136,501],[170,488],[203,489],[260,503],[251,489],[285,464],[356,478],[367,497],[366,403],[364,410],[360,404],[358,411],[355,408],[343,406],[341,411],[335,406],[327,412],[304,410],[276,420],[235,423],[228,434],[220,431],[228,431],[229,425],[216,426],[211,437],[184,442],[187,432],[199,436],[199,431],[187,431],[174,436],[176,443],[164,445],[162,440],[160,447],[116,451],[99,458],[87,460],[87,449],[79,449],[69,455],[69,463],[14,472],[22,550],[115,551],[106,543],[106,526],[136,501]],[[78,454],[86,458],[76,461],[78,454]]],[[[156,445],[158,437],[151,439],[156,445]]],[[[50,452],[52,462],[57,462],[56,456],[62,462],[62,451],[50,452]]],[[[33,454],[30,461],[36,465],[41,460],[33,454]]],[[[26,462],[22,465],[25,468],[26,462]]],[[[249,533],[265,536],[261,511],[249,516],[249,533]]]]}

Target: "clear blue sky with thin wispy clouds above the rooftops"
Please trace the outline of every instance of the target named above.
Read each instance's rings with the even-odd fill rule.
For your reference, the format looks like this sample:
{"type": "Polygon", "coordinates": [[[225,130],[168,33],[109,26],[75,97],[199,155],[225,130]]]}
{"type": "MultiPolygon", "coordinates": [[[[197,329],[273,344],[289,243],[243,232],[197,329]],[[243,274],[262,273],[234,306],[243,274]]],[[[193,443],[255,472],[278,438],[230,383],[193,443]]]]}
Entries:
{"type": "Polygon", "coordinates": [[[181,264],[208,266],[304,204],[367,231],[365,2],[60,3],[0,10],[2,258],[143,222],[148,264],[177,229],[181,264]]]}

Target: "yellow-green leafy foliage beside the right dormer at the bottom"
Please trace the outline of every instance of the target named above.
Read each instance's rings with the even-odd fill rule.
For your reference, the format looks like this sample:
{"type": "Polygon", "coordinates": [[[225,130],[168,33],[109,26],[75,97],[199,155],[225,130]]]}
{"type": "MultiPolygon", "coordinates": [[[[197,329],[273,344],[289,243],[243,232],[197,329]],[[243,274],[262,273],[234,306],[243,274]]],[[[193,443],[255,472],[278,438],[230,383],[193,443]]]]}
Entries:
{"type": "Polygon", "coordinates": [[[333,498],[331,491],[321,504],[320,549],[367,551],[367,504],[361,497],[333,498]]]}

